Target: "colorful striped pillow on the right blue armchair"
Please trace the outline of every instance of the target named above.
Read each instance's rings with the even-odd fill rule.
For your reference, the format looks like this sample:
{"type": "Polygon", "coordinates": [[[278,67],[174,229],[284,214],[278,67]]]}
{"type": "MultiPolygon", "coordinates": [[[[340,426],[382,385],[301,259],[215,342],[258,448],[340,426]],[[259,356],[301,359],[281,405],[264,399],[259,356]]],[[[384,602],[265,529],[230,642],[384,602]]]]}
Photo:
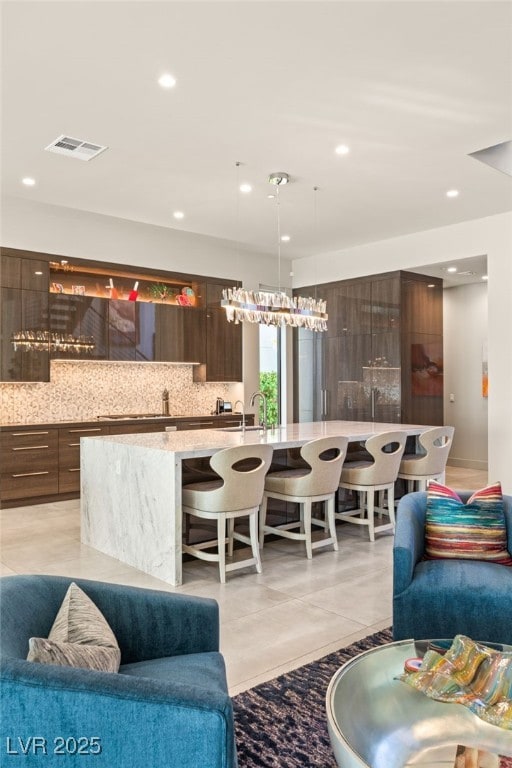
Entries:
{"type": "Polygon", "coordinates": [[[427,559],[486,560],[512,566],[501,483],[475,491],[464,504],[451,488],[431,481],[425,553],[427,559]]]}

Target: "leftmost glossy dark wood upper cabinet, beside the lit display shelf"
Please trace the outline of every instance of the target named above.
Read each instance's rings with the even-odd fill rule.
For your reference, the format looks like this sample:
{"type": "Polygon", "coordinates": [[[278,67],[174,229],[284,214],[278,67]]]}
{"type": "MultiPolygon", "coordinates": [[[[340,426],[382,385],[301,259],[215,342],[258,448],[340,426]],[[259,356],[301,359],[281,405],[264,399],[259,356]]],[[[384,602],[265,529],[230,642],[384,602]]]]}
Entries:
{"type": "Polygon", "coordinates": [[[0,380],[49,381],[47,262],[2,249],[0,320],[0,380]]]}

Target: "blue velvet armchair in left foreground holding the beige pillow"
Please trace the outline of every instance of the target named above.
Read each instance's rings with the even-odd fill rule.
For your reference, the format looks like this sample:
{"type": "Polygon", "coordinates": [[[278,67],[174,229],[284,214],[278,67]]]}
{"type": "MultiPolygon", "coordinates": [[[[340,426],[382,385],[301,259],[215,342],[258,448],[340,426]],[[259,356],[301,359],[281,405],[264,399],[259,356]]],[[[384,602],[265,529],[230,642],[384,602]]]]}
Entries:
{"type": "Polygon", "coordinates": [[[2,768],[80,768],[87,754],[97,768],[235,768],[217,603],[73,579],[117,638],[119,674],[26,661],[71,581],[0,579],[2,768]]]}

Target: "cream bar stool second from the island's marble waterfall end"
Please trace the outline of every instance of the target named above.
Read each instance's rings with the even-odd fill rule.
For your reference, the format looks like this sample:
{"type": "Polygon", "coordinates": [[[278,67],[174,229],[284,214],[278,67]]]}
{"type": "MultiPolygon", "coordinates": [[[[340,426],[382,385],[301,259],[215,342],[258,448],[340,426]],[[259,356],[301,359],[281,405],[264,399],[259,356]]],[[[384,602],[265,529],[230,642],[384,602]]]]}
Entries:
{"type": "Polygon", "coordinates": [[[347,453],[347,443],[346,437],[320,437],[317,440],[311,440],[300,449],[300,456],[306,463],[305,466],[271,472],[267,475],[260,508],[260,547],[264,545],[265,534],[273,533],[287,539],[304,541],[308,560],[311,560],[313,549],[317,547],[332,544],[334,549],[338,549],[334,498],[347,453]],[[299,504],[300,519],[277,526],[267,525],[269,498],[299,504]],[[324,520],[316,519],[311,515],[312,505],[316,501],[324,503],[324,520]],[[312,541],[312,525],[324,528],[329,535],[312,541]],[[293,530],[294,528],[300,530],[297,532],[293,530]]]}

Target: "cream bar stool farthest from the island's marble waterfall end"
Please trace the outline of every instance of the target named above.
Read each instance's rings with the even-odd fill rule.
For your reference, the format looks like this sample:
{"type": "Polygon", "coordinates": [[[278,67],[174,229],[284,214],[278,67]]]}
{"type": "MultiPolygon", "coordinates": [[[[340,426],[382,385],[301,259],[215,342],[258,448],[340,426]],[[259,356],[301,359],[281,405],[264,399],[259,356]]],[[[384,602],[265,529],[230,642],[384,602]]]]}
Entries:
{"type": "Polygon", "coordinates": [[[453,427],[432,427],[418,435],[420,453],[404,454],[398,477],[407,480],[407,491],[426,491],[429,480],[443,480],[453,442],[453,427]]]}

